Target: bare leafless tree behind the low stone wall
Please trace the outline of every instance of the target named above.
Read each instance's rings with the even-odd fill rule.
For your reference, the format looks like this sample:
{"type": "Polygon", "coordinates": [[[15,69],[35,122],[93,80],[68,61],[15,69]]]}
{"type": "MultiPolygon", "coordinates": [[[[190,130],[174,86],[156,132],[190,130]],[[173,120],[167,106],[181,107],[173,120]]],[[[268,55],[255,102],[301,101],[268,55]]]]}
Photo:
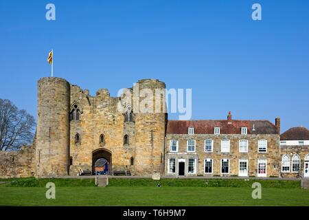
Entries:
{"type": "Polygon", "coordinates": [[[34,117],[0,98],[0,151],[17,151],[34,138],[34,117]]]}

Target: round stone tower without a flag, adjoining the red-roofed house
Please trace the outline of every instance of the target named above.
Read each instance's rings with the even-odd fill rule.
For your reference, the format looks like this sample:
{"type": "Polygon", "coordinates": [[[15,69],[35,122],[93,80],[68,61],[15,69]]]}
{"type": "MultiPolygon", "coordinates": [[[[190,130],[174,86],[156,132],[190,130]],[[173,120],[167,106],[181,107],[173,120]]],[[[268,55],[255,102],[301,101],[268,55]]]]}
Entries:
{"type": "Polygon", "coordinates": [[[167,120],[165,83],[153,79],[139,80],[134,90],[139,91],[139,111],[136,108],[136,98],[133,104],[136,131],[135,170],[137,175],[163,174],[167,120]]]}

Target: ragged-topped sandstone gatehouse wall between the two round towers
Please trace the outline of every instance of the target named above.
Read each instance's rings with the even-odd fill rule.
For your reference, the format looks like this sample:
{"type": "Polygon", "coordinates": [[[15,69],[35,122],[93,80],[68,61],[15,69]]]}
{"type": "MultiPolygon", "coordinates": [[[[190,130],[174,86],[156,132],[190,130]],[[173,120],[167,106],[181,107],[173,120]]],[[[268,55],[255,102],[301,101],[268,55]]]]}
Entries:
{"type": "Polygon", "coordinates": [[[117,100],[111,98],[106,90],[99,90],[95,97],[89,96],[80,87],[71,86],[71,104],[78,104],[80,120],[71,121],[70,156],[72,165],[70,175],[78,170],[92,170],[93,151],[104,149],[112,153],[112,170],[129,170],[130,157],[133,156],[134,133],[129,133],[130,144],[124,146],[124,115],[117,111],[117,100]],[[75,143],[76,134],[80,143],[75,143]],[[100,144],[100,135],[104,143],[100,144]]]}

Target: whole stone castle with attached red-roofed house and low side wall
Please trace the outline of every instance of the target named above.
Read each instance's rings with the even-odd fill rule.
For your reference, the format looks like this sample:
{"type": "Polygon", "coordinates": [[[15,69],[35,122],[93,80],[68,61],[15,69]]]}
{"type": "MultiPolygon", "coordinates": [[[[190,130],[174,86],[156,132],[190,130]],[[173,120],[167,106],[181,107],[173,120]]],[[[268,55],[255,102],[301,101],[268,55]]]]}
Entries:
{"type": "MultiPolygon", "coordinates": [[[[165,91],[159,80],[137,85],[139,91],[165,91]]],[[[165,94],[160,97],[163,110],[165,94]]],[[[76,176],[81,171],[309,177],[309,131],[296,127],[281,133],[279,118],[273,123],[235,120],[230,112],[226,120],[168,120],[165,111],[136,111],[124,96],[111,97],[107,89],[91,96],[65,79],[41,78],[34,141],[21,151],[0,152],[0,177],[76,176]]]]}

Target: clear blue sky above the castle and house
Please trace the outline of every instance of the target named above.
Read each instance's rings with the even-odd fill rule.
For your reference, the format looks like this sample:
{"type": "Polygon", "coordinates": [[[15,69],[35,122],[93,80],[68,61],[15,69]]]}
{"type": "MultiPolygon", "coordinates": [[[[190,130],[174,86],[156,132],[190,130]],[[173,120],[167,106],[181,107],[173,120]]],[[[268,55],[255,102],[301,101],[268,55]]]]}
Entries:
{"type": "MultiPolygon", "coordinates": [[[[3,1],[0,98],[36,116],[54,75],[112,96],[141,78],[192,88],[192,119],[282,118],[309,128],[309,1],[3,1]],[[56,21],[45,5],[56,5],[56,21]],[[251,5],[262,5],[262,21],[251,5]]],[[[176,115],[170,115],[171,119],[176,115]]]]}

